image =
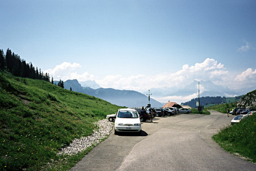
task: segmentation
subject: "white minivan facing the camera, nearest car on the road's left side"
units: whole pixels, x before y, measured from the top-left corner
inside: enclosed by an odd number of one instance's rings
[[[119,109],[115,118],[115,135],[119,132],[141,134],[140,116],[135,109]]]

